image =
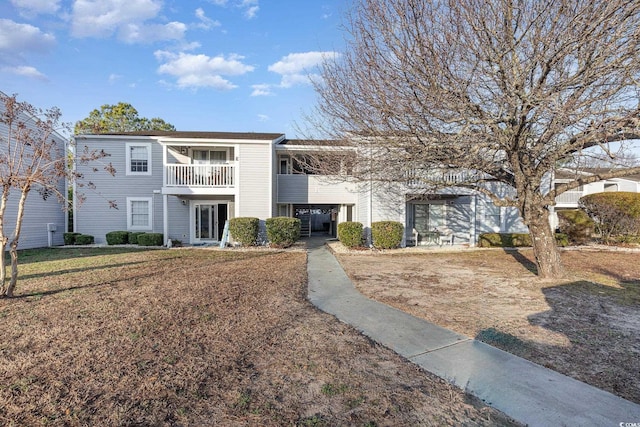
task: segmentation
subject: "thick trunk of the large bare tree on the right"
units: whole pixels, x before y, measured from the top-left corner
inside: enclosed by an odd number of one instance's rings
[[[549,211],[544,207],[529,207],[527,214],[523,217],[529,226],[538,276],[543,279],[564,277],[565,271],[555,233],[549,224]]]

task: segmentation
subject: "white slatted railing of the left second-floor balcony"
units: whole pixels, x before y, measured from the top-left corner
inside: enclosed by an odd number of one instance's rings
[[[166,187],[229,188],[235,185],[234,162],[208,165],[166,165]]]

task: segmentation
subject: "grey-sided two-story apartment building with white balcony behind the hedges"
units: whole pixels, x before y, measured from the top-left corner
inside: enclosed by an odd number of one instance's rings
[[[515,209],[455,187],[418,194],[411,185],[381,190],[375,183],[317,175],[298,159],[351,149],[332,141],[287,139],[278,133],[138,132],[76,137],[80,149],[104,150],[115,176],[95,165],[76,165],[95,184],[75,208],[75,231],[97,243],[115,230],[163,233],[186,244],[217,242],[229,218],[298,217],[303,233],[335,235],[337,224],[382,220],[405,225],[407,244],[428,243],[447,228],[457,243],[475,244],[480,233],[526,231]],[[94,171],[98,169],[97,171]],[[339,175],[339,177],[337,176]],[[345,179],[346,176],[346,179]],[[117,208],[110,208],[109,201]]]

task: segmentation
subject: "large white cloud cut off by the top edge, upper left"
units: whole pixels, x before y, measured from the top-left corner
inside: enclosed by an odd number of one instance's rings
[[[161,9],[161,0],[76,0],[71,33],[75,37],[118,34],[127,43],[182,39],[187,27],[181,22],[147,23]]]

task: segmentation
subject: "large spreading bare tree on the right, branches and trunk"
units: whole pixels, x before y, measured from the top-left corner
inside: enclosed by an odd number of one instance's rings
[[[347,30],[310,124],[367,154],[356,178],[429,192],[455,172],[456,186],[518,208],[539,276],[562,276],[556,195],[640,171],[629,156],[616,167],[611,148],[638,137],[640,2],[358,0]],[[580,156],[611,167],[551,188]]]

